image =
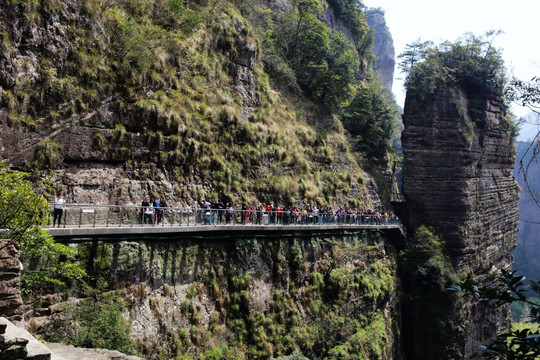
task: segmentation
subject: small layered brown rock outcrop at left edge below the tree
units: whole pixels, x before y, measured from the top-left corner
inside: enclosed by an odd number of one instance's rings
[[[0,316],[22,319],[19,244],[0,240]]]

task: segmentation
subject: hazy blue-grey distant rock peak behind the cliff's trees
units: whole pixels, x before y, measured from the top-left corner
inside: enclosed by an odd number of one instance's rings
[[[386,26],[384,11],[381,9],[366,10],[366,21],[375,33],[373,39],[373,54],[376,59],[374,70],[379,74],[382,83],[392,91],[396,54],[392,34]]]

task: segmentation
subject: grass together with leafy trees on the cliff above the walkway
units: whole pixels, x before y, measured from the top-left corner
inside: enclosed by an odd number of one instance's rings
[[[110,130],[94,133],[93,145],[107,157],[128,160],[126,171],[138,170],[133,176],[139,180],[177,172],[175,182],[202,181],[200,191],[234,194],[235,202],[358,204],[350,198],[363,192],[356,181],[360,169],[336,113],[353,98],[355,77],[366,64],[361,39],[353,44],[328,29],[318,19],[319,0],[295,1],[291,14],[251,6],[257,7],[226,1],[90,1],[81,14],[89,25],[70,23],[63,33],[77,44],[67,49],[66,61],[39,58],[35,81],[6,90],[2,104],[13,121],[45,134],[50,125],[63,126],[74,114],[90,114],[107,103],[118,117]],[[31,12],[49,7],[51,2]],[[55,7],[60,19],[70,18],[63,6]],[[354,16],[361,29],[365,21],[356,10]],[[99,31],[96,24],[102,25]],[[11,41],[11,46],[18,45]],[[247,83],[242,91],[249,100],[239,96],[237,85],[243,76],[239,64],[251,60],[256,88]],[[277,92],[270,85],[276,82],[295,94]],[[244,111],[246,105],[253,112]],[[146,150],[132,148],[136,133]],[[30,165],[57,168],[62,151],[45,141]],[[152,164],[163,171],[149,171]],[[314,164],[323,165],[314,170]],[[337,179],[335,169],[351,172],[354,180]],[[179,201],[192,196],[188,187],[177,189]]]

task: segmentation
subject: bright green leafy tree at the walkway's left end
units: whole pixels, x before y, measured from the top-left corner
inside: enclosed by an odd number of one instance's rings
[[[2,236],[20,244],[21,262],[25,265],[23,287],[30,291],[82,279],[86,274],[76,263],[77,252],[55,243],[41,228],[48,222],[49,205],[34,192],[27,176],[10,171],[5,162],[0,162],[0,229]],[[44,258],[47,266],[41,266],[40,259]]]

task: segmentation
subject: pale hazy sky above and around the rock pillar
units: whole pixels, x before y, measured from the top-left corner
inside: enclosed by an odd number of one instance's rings
[[[540,0],[364,0],[363,3],[385,11],[396,56],[406,44],[418,38],[439,44],[455,41],[466,32],[483,35],[496,29],[504,31],[494,45],[502,49],[509,71],[524,80],[540,76]],[[393,92],[403,106],[401,77],[396,66]],[[513,111],[520,116],[528,112],[517,107]]]

